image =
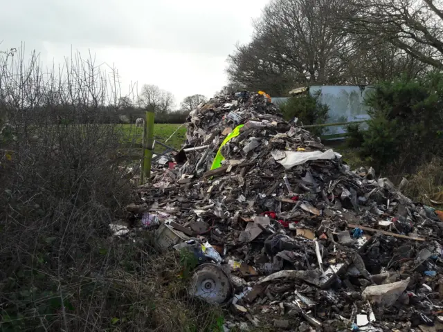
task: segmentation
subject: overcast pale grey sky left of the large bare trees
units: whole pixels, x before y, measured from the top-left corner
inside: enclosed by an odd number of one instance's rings
[[[177,104],[208,97],[226,84],[226,57],[248,42],[251,20],[269,0],[16,0],[3,1],[2,48],[26,43],[43,62],[63,62],[71,46],[97,63],[114,64],[122,90],[156,84]]]

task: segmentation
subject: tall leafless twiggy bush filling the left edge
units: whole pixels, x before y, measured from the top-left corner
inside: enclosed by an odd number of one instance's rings
[[[20,326],[32,331],[98,331],[94,316],[105,314],[106,297],[71,290],[82,284],[80,275],[94,270],[111,275],[107,256],[94,258],[93,252],[109,234],[109,221],[122,216],[116,206],[129,203],[132,193],[122,176],[127,166],[116,160],[125,132],[108,117],[119,88],[107,79],[114,74],[108,76],[92,57],[74,53],[53,71],[42,68],[38,53],[28,54],[23,48],[14,56],[0,53],[0,192],[8,193],[0,197],[0,264],[8,265],[0,275],[0,302],[10,303],[2,312],[24,313]],[[69,124],[56,122],[60,114]],[[49,319],[46,301],[39,302],[43,297],[14,294],[33,281],[16,278],[15,288],[6,286],[17,271],[37,268],[36,255],[46,252],[54,255],[39,264],[43,279],[37,293],[60,303]],[[2,322],[2,329],[17,326]]]

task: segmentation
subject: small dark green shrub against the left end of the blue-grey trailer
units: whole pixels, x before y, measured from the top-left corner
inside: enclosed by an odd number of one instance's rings
[[[329,107],[322,104],[319,100],[320,91],[315,95],[301,95],[299,97],[292,97],[280,106],[283,113],[284,120],[292,120],[294,117],[298,118],[297,124],[323,124],[326,122]],[[317,136],[320,136],[325,127],[310,128],[309,131]]]

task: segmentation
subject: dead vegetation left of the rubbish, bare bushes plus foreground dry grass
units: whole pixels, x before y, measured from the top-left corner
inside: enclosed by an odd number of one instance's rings
[[[110,158],[122,127],[102,123],[118,97],[92,57],[46,73],[35,53],[0,54],[1,331],[217,331],[177,257],[109,237],[134,189]]]

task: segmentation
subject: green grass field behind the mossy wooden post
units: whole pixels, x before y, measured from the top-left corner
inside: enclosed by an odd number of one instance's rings
[[[165,143],[174,131],[180,127],[180,124],[170,124],[170,123],[156,123],[154,124],[154,139]],[[123,130],[125,132],[125,140],[127,143],[141,144],[143,136],[143,128],[136,127],[135,124],[123,124]],[[175,149],[180,149],[183,142],[186,140],[186,127],[181,127],[177,133],[168,140],[167,145],[174,147]],[[163,151],[163,147],[156,147],[155,151]]]

